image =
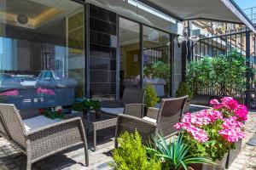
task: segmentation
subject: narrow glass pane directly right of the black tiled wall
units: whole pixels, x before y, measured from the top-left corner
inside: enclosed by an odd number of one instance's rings
[[[140,88],[140,28],[131,20],[119,18],[120,97],[125,88]]]

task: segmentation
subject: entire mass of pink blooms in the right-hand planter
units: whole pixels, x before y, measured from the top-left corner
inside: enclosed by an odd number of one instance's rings
[[[185,130],[201,143],[211,138],[207,136],[208,131],[206,132],[209,126],[211,129],[215,127],[221,129],[216,132],[230,143],[245,138],[245,133],[242,131],[244,127],[242,122],[247,120],[248,113],[245,105],[239,105],[236,99],[230,97],[221,99],[221,102],[212,99],[210,104],[213,106],[212,110],[187,113],[174,127]]]

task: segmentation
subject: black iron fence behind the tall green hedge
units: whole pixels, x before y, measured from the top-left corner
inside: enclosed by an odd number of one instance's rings
[[[246,28],[239,28],[233,31],[226,31],[223,35],[208,34],[200,37],[198,42],[192,42],[192,60],[203,57],[215,57],[220,54],[227,55],[231,51],[237,51],[241,56],[246,58],[247,66],[253,71],[256,69],[256,34],[247,31]],[[244,91],[231,89],[230,95],[234,97],[244,97],[247,105],[256,108],[256,88],[255,75],[244,77],[247,82],[247,88]],[[232,87],[230,85],[230,87]],[[201,89],[198,94],[207,94],[212,96],[223,95],[221,89],[217,87]]]

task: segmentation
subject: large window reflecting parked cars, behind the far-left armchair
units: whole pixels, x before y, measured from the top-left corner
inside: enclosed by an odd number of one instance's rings
[[[40,108],[84,97],[84,6],[69,0],[0,6],[1,102]]]

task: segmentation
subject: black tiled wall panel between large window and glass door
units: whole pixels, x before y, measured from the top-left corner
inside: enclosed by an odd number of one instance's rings
[[[116,97],[116,14],[90,5],[90,97]]]

